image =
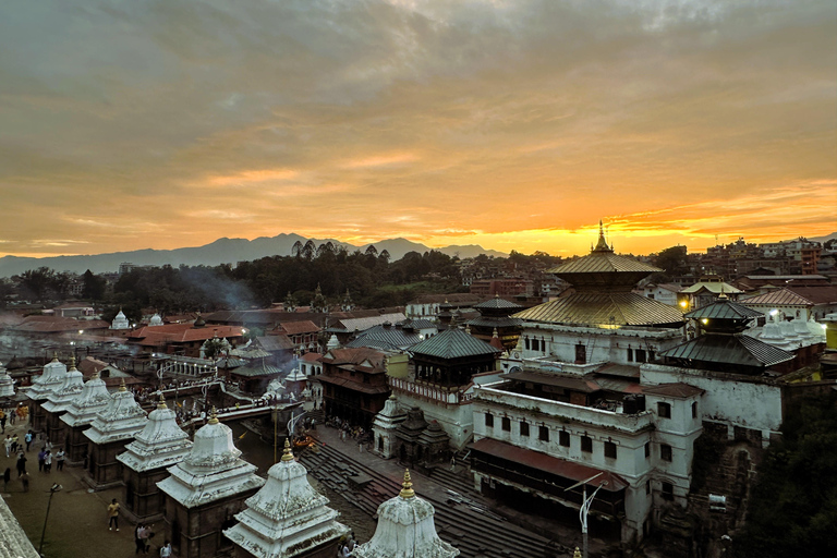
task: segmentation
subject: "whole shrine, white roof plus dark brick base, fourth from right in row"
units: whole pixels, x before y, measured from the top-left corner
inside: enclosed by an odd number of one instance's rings
[[[180,463],[192,449],[192,441],[180,426],[177,414],[160,395],[157,409],[125,452],[117,456],[122,465],[125,496],[122,510],[129,520],[156,521],[162,518],[165,496],[157,483],[169,476],[168,468]]]

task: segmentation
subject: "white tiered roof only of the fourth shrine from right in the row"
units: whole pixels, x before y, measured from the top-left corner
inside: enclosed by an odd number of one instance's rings
[[[177,413],[166,405],[160,395],[157,409],[148,413],[145,428],[117,460],[136,472],[150,471],[180,463],[191,449],[189,434],[178,426]]]

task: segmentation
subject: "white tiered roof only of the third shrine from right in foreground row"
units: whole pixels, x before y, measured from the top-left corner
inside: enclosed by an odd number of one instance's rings
[[[232,430],[213,410],[209,422],[195,433],[186,458],[169,468],[171,476],[157,483],[160,490],[185,508],[195,508],[241,494],[265,484],[256,465],[241,459],[232,442]]]

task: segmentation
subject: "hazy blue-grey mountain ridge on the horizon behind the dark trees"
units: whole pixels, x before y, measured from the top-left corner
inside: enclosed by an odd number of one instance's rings
[[[364,252],[369,244],[355,246],[333,239],[311,239],[314,244],[320,245],[331,241],[333,244],[345,246],[349,252],[360,250]],[[250,262],[268,256],[289,256],[296,241],[305,244],[308,239],[299,234],[279,234],[272,238],[259,236],[258,239],[218,239],[213,243],[197,247],[175,250],[135,250],[133,252],[114,252],[111,254],[94,254],[83,256],[57,256],[57,257],[17,257],[4,256],[0,258],[0,277],[11,277],[27,269],[49,267],[57,271],[73,271],[83,274],[87,269],[94,274],[117,271],[123,262],[130,262],[138,266],[217,266],[220,264],[235,265],[238,262]],[[378,253],[386,250],[390,260],[401,259],[408,252],[424,253],[430,248],[424,244],[411,242],[405,239],[389,239],[374,243]],[[459,255],[461,258],[475,257],[480,254],[505,257],[508,254],[494,250],[485,250],[482,246],[470,244],[465,246],[446,246],[434,248],[450,256]]]

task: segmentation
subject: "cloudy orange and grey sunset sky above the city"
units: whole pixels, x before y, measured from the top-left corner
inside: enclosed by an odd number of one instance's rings
[[[834,0],[0,4],[0,256],[837,231]]]

